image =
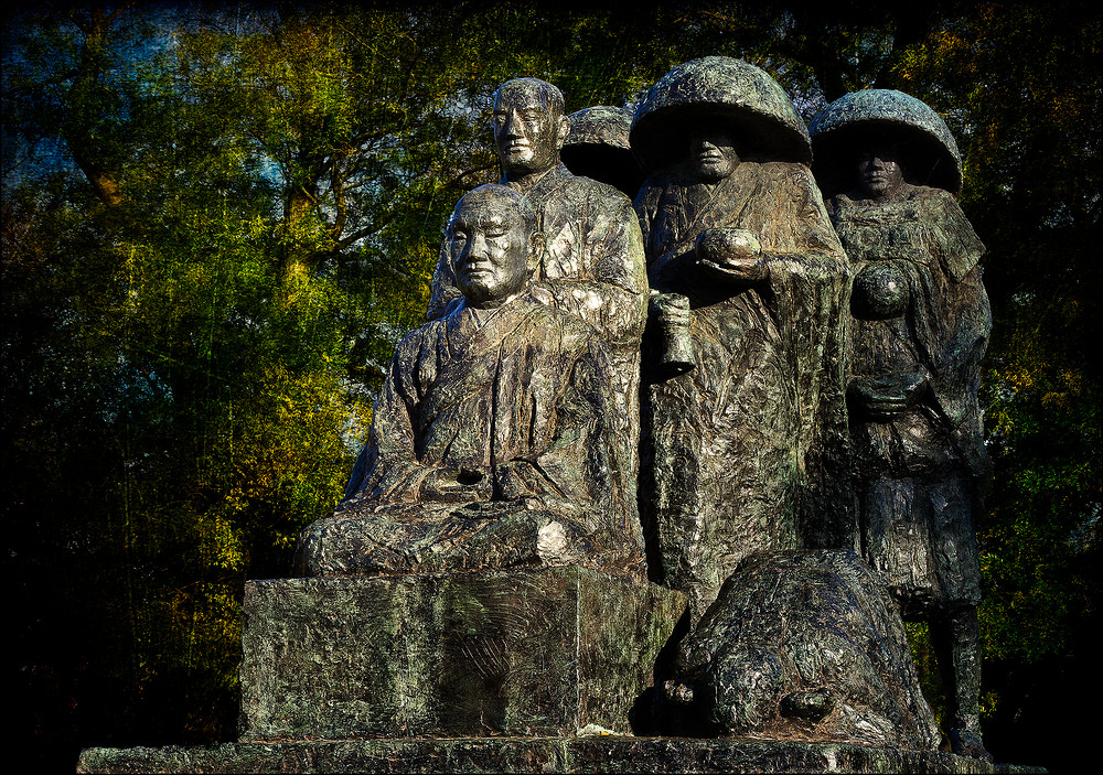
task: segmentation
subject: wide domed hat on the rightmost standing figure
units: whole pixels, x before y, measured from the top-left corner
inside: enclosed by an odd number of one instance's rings
[[[899,146],[909,182],[961,192],[961,153],[950,128],[925,103],[903,92],[852,92],[821,110],[810,130],[812,171],[826,195],[853,184],[857,154],[870,143]]]

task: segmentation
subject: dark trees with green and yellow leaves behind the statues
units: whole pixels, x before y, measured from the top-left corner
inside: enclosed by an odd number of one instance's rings
[[[942,114],[988,247],[984,724],[1059,771],[1099,689],[1100,67],[1088,4],[8,7],[2,508],[17,740],[233,740],[243,582],[342,492],[440,228],[494,180],[493,89],[631,105],[708,54],[806,120]],[[935,706],[930,649],[911,631]],[[1094,681],[1091,685],[1090,681]],[[1080,738],[1082,739],[1082,738]]]

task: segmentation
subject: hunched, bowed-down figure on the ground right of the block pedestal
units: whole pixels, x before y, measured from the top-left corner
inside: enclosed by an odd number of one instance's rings
[[[896,603],[854,552],[745,560],[682,643],[685,734],[938,749]]]

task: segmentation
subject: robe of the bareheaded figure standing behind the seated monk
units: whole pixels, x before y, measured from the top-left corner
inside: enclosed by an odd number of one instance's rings
[[[612,186],[552,168],[532,187],[516,189],[533,205],[547,248],[529,288],[542,302],[585,321],[604,340],[617,416],[613,432],[628,486],[635,489],[640,434],[640,338],[647,315],[647,276],[640,225],[627,196]],[[442,246],[426,313],[433,320],[460,299]]]

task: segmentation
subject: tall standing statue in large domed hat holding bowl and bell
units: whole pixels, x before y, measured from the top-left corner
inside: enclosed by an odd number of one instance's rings
[[[635,206],[656,310],[641,516],[653,577],[687,592],[697,618],[748,555],[845,542],[804,526],[846,510],[831,473],[845,454],[848,275],[807,130],[763,71],[679,65],[631,137],[651,174]]]

